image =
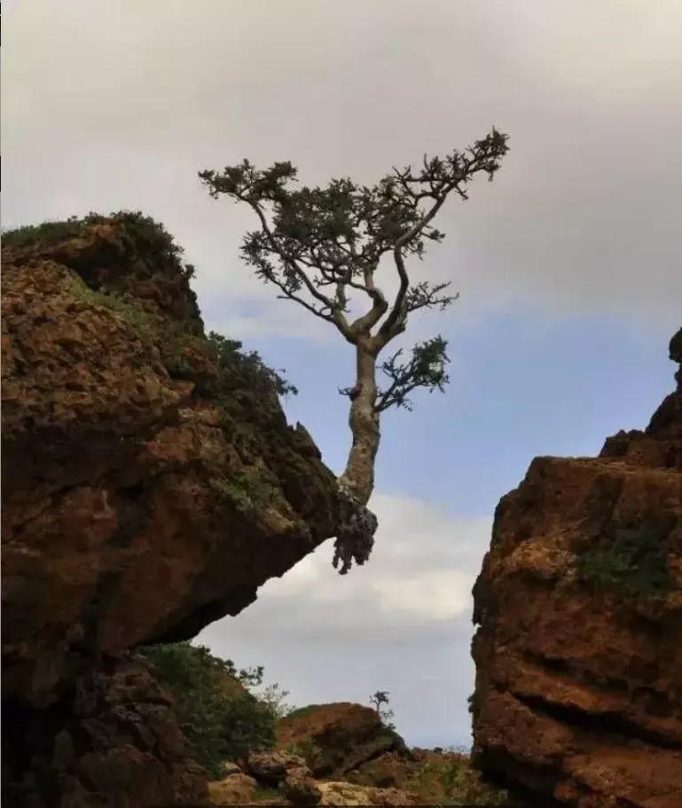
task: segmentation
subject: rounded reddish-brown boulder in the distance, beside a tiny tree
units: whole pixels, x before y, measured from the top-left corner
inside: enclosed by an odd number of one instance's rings
[[[300,750],[316,777],[342,777],[384,752],[407,754],[403,739],[376,710],[351,702],[314,705],[283,718],[277,746]]]

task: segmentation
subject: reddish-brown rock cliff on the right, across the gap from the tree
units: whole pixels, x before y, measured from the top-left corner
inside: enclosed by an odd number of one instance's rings
[[[474,749],[529,802],[682,805],[676,380],[644,432],[596,459],[537,458],[499,503],[474,586]]]

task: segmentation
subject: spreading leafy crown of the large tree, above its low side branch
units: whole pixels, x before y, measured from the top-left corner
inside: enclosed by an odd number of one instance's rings
[[[435,214],[451,193],[466,200],[467,184],[477,174],[492,179],[506,141],[492,129],[463,152],[425,155],[419,169],[394,167],[374,185],[342,177],[324,187],[297,188],[290,162],[256,169],[247,160],[223,171],[201,171],[200,179],[215,199],[224,194],[254,210],[260,227],[247,232],[241,255],[257,277],[277,286],[280,297],[332,323],[348,341],[372,336],[376,354],[404,331],[412,311],[444,309],[456,299],[448,283],[411,283],[405,258],[422,258],[427,242],[443,239],[432,224]],[[378,286],[387,254],[393,255],[399,280],[390,303]],[[351,321],[354,295],[369,308]]]

